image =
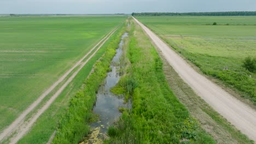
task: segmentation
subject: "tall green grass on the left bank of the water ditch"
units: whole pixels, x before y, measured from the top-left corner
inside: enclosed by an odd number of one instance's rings
[[[68,110],[62,116],[53,143],[78,143],[90,131],[89,122],[93,116],[92,108],[96,101],[98,87],[107,75],[115,49],[121,39],[124,28],[120,28],[106,52],[94,65],[93,71],[85,80],[84,86],[71,98]]]

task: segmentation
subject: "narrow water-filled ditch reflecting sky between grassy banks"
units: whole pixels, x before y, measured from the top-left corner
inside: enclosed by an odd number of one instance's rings
[[[103,140],[107,137],[107,130],[110,125],[113,125],[115,121],[118,121],[121,116],[119,107],[130,107],[130,103],[124,104],[124,98],[118,97],[118,95],[110,92],[110,89],[117,85],[120,79],[120,57],[123,53],[124,38],[128,37],[127,33],[124,33],[117,53],[112,59],[110,68],[112,71],[108,72],[104,85],[102,85],[97,92],[97,100],[94,106],[93,112],[99,116],[98,121],[91,123],[91,134],[87,137],[86,143],[103,143]]]

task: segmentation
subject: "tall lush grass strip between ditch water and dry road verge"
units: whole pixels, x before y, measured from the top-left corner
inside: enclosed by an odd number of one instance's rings
[[[117,87],[130,95],[132,109],[109,128],[105,143],[216,143],[171,91],[147,35],[133,20],[131,27],[124,49],[130,63]]]

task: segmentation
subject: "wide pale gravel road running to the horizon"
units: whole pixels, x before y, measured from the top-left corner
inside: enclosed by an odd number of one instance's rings
[[[133,17],[134,18],[134,17]],[[135,18],[134,18],[135,19]],[[215,83],[197,73],[191,66],[174,52],[156,34],[150,31],[141,22],[135,21],[153,40],[156,46],[162,51],[168,63],[188,83],[188,85],[206,101],[214,110],[219,112],[238,130],[246,134],[250,139],[256,141],[256,111],[251,107],[232,97]]]

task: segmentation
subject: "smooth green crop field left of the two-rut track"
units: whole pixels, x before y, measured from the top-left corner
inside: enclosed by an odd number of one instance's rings
[[[125,19],[0,17],[0,131]]]

